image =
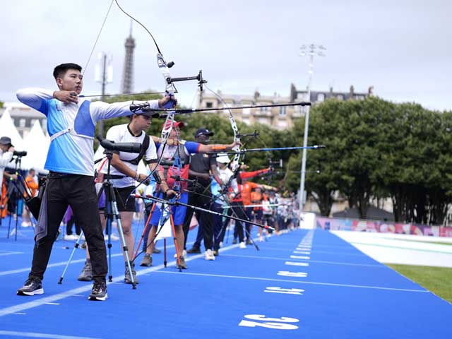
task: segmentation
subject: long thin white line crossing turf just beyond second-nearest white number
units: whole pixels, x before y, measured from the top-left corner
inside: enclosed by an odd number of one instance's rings
[[[159,270],[157,273],[177,274],[177,272],[170,272],[169,270]],[[258,277],[244,277],[239,275],[221,275],[221,274],[208,274],[208,273],[187,273],[184,275],[200,275],[203,277],[214,278],[234,278],[234,279],[246,279],[246,280],[264,280],[264,281],[276,281],[282,283],[297,283],[297,284],[309,284],[309,285],[324,285],[324,286],[336,286],[336,287],[355,287],[355,288],[369,288],[371,290],[388,290],[388,291],[400,291],[400,292],[423,292],[430,293],[427,290],[411,290],[406,288],[393,288],[393,287],[379,287],[379,286],[367,286],[367,285],[347,285],[347,284],[333,284],[333,283],[319,283],[314,281],[297,281],[286,279],[271,279],[271,278],[258,278]]]

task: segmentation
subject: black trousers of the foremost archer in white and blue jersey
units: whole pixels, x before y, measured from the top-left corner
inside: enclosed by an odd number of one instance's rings
[[[44,278],[60,222],[69,205],[85,234],[93,266],[93,279],[105,281],[107,251],[93,177],[78,174],[52,176],[51,173],[44,196],[47,197],[47,236],[35,242],[30,278]]]

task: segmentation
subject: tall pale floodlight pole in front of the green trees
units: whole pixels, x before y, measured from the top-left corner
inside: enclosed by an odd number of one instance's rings
[[[325,57],[325,54],[321,50],[326,48],[321,45],[309,44],[308,46],[303,45],[300,47],[300,56],[304,57],[309,55],[309,79],[307,85],[307,99],[306,101],[311,101],[311,82],[312,74],[314,73],[314,55],[319,57]],[[306,203],[306,195],[304,194],[304,179],[306,177],[306,158],[307,158],[307,145],[308,145],[308,131],[309,131],[309,110],[310,106],[304,107],[304,136],[303,136],[303,155],[302,155],[302,174],[299,182],[299,210],[300,212],[304,209],[304,204]]]

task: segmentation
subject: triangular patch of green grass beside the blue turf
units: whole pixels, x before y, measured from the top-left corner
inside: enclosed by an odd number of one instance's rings
[[[406,278],[452,303],[452,268],[385,263]]]

